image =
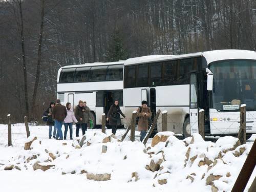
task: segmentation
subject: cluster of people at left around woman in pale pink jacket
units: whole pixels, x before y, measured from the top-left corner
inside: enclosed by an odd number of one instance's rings
[[[70,102],[67,102],[66,106],[64,106],[60,103],[60,100],[57,99],[56,105],[54,102],[51,102],[44,115],[48,116],[47,125],[49,125],[49,139],[52,138],[52,127],[54,127],[53,138],[57,140],[63,139],[61,130],[62,124],[64,124],[65,127],[64,139],[67,139],[68,129],[70,139],[73,139],[73,122],[76,123],[76,137],[79,137],[79,129],[82,129],[82,135],[86,134],[88,123],[90,123],[90,119],[92,118],[87,102],[81,100],[74,112]]]

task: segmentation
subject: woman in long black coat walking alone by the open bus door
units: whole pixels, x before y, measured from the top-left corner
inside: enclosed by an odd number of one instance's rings
[[[109,121],[109,125],[111,125],[112,133],[116,134],[117,126],[121,124],[120,114],[125,118],[125,115],[120,110],[118,105],[118,100],[115,100],[114,104],[111,105],[108,115],[106,116],[106,121]]]

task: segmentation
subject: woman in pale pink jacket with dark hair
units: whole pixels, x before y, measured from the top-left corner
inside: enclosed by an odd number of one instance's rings
[[[70,139],[73,139],[72,138],[72,134],[73,134],[73,121],[75,123],[77,123],[77,120],[75,118],[73,110],[71,109],[71,103],[67,102],[66,108],[67,108],[68,115],[64,119],[64,126],[65,126],[64,139],[67,139],[68,129],[69,129],[69,133],[70,133]]]

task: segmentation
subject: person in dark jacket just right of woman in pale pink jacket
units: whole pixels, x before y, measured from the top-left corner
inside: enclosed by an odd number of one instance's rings
[[[77,123],[76,123],[76,137],[79,137],[79,129],[80,127],[82,128],[82,135],[86,134],[86,130],[87,130],[87,121],[84,118],[84,113],[86,112],[86,108],[84,108],[83,106],[83,102],[80,100],[78,102],[78,105],[76,106],[75,109],[75,117],[77,119]]]

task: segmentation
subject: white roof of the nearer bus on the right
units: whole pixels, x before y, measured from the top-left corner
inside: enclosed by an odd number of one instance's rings
[[[163,60],[173,60],[179,58],[189,58],[189,57],[199,57],[204,56],[207,63],[211,63],[218,60],[227,60],[227,59],[256,59],[256,53],[254,51],[248,50],[235,50],[235,49],[226,49],[226,50],[214,50],[214,51],[205,51],[198,53],[189,53],[182,55],[148,55],[143,57],[130,58],[124,61],[124,65],[133,65],[137,63],[150,63],[155,61]]]

